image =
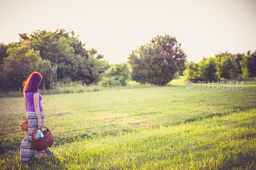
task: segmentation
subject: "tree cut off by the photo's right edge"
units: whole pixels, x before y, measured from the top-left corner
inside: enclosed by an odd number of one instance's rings
[[[244,78],[253,78],[256,77],[256,50],[251,53],[247,52],[247,55],[244,55],[243,60],[240,61],[240,65],[243,72]]]

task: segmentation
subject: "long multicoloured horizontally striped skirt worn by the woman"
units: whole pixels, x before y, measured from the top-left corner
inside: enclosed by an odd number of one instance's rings
[[[44,112],[40,112],[42,124],[44,124]],[[28,136],[32,136],[32,133],[35,129],[38,129],[38,119],[36,116],[36,112],[28,112]],[[39,129],[38,129],[39,130]],[[40,129],[42,130],[42,128]],[[36,131],[35,131],[36,132]],[[44,154],[51,154],[49,148],[44,151],[37,152],[33,146],[31,146],[31,142],[28,142],[29,137],[26,136],[20,145],[20,160],[28,161],[31,158],[40,158]]]

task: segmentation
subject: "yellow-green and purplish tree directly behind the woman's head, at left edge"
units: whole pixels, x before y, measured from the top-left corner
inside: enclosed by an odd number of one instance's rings
[[[1,82],[6,89],[19,89],[21,83],[33,71],[42,74],[41,86],[50,88],[56,79],[57,67],[52,67],[50,61],[42,60],[39,51],[30,49],[23,44],[20,47],[7,49],[8,57],[4,58],[1,65]]]

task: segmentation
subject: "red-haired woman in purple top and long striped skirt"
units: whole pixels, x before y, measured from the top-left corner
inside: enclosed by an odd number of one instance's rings
[[[28,79],[23,83],[24,105],[28,118],[28,136],[26,136],[20,145],[20,160],[28,161],[29,159],[39,158],[44,154],[53,155],[49,148],[44,151],[37,152],[28,139],[32,136],[35,129],[42,130],[44,124],[44,110],[41,104],[42,96],[39,92],[39,85],[42,80],[42,75],[38,72],[33,72]]]

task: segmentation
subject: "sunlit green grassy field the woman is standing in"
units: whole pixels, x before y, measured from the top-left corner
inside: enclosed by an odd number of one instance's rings
[[[256,82],[43,95],[53,152],[20,162],[23,98],[0,98],[1,169],[256,169]]]

